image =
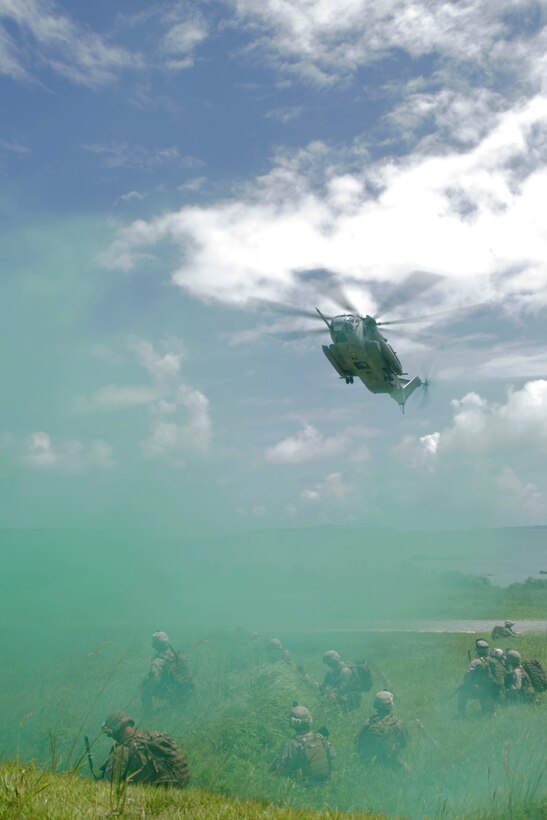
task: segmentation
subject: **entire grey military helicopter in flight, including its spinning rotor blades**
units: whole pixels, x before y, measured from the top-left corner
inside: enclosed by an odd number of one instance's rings
[[[319,273],[329,275],[328,272],[319,271]],[[414,298],[422,291],[434,286],[441,278],[436,274],[423,271],[409,274],[398,287],[396,294],[392,294],[391,298],[380,308],[380,313],[383,314],[386,310],[391,310],[402,302]],[[347,312],[337,316],[326,316],[317,307],[314,313],[275,302],[262,301],[260,305],[263,308],[288,313],[292,316],[321,318],[332,339],[332,344],[323,345],[323,353],[340,378],[344,379],[346,384],[353,384],[355,378],[358,378],[371,393],[386,393],[397,402],[404,413],[409,397],[420,387],[427,390],[429,379],[421,379],[419,376],[406,378],[408,374],[403,371],[399,357],[379,328],[387,325],[421,322],[452,311],[380,322],[379,317],[362,316],[332,281],[327,293],[331,299],[334,297],[334,301]],[[317,331],[309,329],[280,335],[285,339],[294,339],[314,332]]]

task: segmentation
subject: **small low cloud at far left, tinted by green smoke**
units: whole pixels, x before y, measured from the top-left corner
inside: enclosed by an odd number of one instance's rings
[[[84,444],[77,439],[53,443],[44,432],[32,433],[23,449],[23,460],[36,469],[61,473],[82,473],[90,468],[108,470],[114,466],[112,447],[105,441]]]

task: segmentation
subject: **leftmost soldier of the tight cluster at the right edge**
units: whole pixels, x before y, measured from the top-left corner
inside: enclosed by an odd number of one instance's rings
[[[483,638],[475,641],[477,657],[474,658],[459,687],[458,716],[465,717],[467,701],[478,700],[482,715],[491,715],[504,698],[505,670],[499,650],[489,655],[489,644]],[[503,656],[503,652],[501,653]]]

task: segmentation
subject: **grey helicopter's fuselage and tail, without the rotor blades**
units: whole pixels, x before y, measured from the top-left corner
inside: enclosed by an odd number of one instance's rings
[[[372,316],[343,314],[330,320],[332,344],[323,352],[340,378],[348,384],[359,378],[371,393],[387,393],[404,407],[422,382],[403,378],[403,368]]]

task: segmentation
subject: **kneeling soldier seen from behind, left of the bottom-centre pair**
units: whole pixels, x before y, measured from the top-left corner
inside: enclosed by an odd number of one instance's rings
[[[305,706],[294,706],[290,722],[296,735],[289,740],[271,770],[288,777],[321,782],[331,775],[336,755],[322,732],[312,731],[313,718]]]

